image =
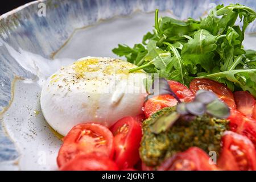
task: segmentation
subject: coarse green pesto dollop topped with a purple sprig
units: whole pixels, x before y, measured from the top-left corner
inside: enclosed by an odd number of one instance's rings
[[[228,130],[226,119],[216,119],[209,115],[197,116],[192,121],[178,120],[167,131],[160,134],[152,133],[152,124],[160,116],[176,110],[176,107],[166,107],[157,111],[143,122],[143,137],[139,153],[142,162],[147,166],[158,166],[164,159],[196,146],[205,152],[221,148],[221,137]]]

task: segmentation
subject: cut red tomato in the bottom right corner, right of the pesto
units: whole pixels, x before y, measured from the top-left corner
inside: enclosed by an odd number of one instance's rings
[[[256,152],[253,143],[245,136],[225,131],[218,167],[224,170],[256,170]]]

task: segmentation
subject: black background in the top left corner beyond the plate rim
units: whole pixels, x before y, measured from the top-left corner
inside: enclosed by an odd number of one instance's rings
[[[1,1],[0,5],[0,15],[7,13],[10,10],[15,9],[21,5],[24,5],[32,0],[8,0],[8,1]]]

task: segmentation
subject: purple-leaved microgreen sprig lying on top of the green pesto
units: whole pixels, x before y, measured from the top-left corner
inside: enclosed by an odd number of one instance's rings
[[[159,87],[161,85],[162,93],[170,92],[171,89],[169,90],[169,86],[168,88],[166,86],[168,82],[165,79],[159,80],[161,80],[159,81]],[[174,92],[171,90],[171,93]],[[174,95],[176,96],[175,93]],[[209,114],[212,117],[220,119],[226,119],[230,115],[230,109],[224,102],[220,101],[213,92],[199,90],[192,102],[179,102],[176,111],[160,116],[152,125],[151,130],[153,133],[159,134],[167,131],[179,119],[181,121],[192,121],[196,116],[204,114]]]

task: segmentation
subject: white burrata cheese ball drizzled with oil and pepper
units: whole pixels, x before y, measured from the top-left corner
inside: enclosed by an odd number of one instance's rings
[[[79,123],[112,126],[118,119],[142,113],[144,72],[134,64],[106,57],[85,57],[61,68],[43,85],[40,98],[46,121],[61,135]]]

